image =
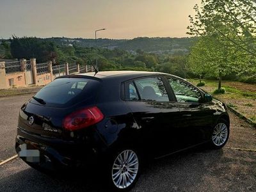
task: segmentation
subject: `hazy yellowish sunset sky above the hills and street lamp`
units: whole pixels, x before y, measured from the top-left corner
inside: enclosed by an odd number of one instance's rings
[[[0,38],[186,35],[200,0],[0,0]]]

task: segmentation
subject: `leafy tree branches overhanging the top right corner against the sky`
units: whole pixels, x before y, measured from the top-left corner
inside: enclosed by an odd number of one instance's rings
[[[195,18],[189,15],[190,35],[214,35],[246,54],[256,55],[256,3],[254,0],[202,0]],[[214,11],[213,11],[214,10]],[[223,27],[225,26],[225,27]]]

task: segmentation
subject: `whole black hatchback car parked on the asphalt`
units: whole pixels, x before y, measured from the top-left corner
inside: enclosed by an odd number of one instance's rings
[[[131,189],[144,158],[228,140],[225,104],[157,72],[61,76],[20,109],[16,150],[38,170],[100,164],[109,186]]]

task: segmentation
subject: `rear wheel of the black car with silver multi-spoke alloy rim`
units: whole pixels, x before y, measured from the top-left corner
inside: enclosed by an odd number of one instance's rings
[[[107,170],[109,191],[130,191],[136,184],[141,170],[137,150],[122,148],[113,153]]]

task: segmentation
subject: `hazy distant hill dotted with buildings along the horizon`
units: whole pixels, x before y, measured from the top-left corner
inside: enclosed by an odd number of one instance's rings
[[[187,53],[189,52],[189,48],[195,44],[196,38],[170,38],[170,37],[138,37],[132,40],[115,40],[108,38],[99,38],[97,39],[97,43],[95,39],[92,38],[60,38],[60,37],[52,37],[46,38],[46,40],[50,40],[55,42],[58,45],[77,45],[81,47],[103,47],[107,49],[124,49],[127,51],[136,51],[141,49],[141,51],[145,52],[155,52],[159,54],[168,53],[175,54],[179,53]]]

